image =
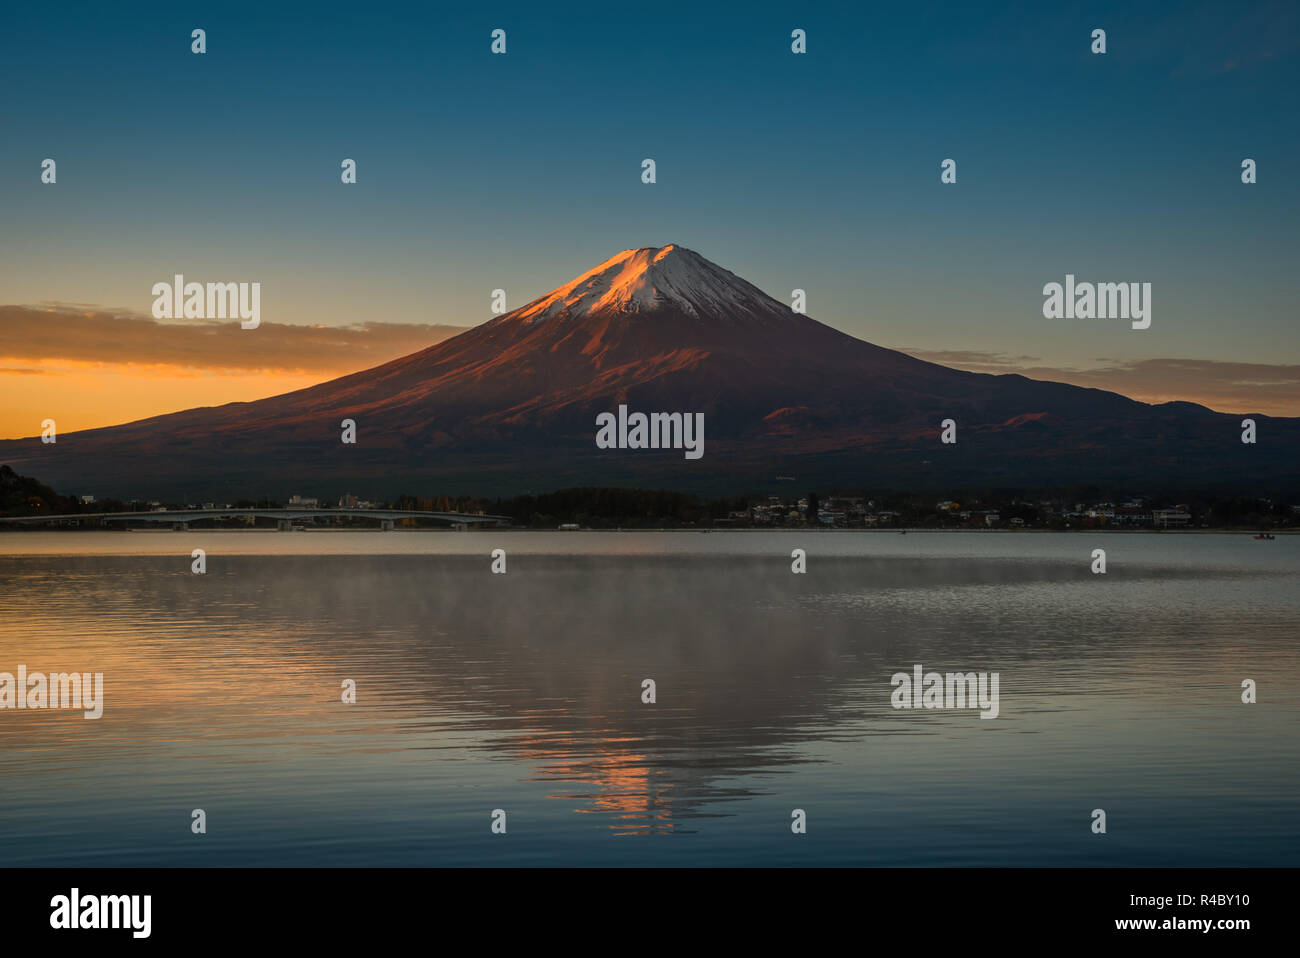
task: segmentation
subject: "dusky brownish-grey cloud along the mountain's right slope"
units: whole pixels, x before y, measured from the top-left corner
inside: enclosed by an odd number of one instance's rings
[[[1036,356],[971,350],[907,350],[931,363],[975,373],[1019,373],[1031,380],[1105,389],[1144,403],[1175,400],[1212,409],[1300,416],[1300,365],[1216,359],[1096,359],[1089,368],[1044,365]]]

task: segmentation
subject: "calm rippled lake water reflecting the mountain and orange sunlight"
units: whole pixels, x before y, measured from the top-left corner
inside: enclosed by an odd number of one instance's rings
[[[1294,866],[1297,573],[1244,534],[3,534],[0,671],[105,707],[0,711],[0,866]],[[892,708],[916,663],[998,672],[1000,718]]]

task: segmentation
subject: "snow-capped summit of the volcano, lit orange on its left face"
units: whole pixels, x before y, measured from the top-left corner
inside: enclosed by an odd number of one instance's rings
[[[637,313],[676,308],[688,316],[727,318],[788,307],[753,283],[685,247],[624,250],[595,269],[536,299],[515,316],[529,322],[554,316]]]

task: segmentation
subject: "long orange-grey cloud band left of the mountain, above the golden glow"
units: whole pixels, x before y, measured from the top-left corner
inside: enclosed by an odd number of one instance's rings
[[[160,322],[127,309],[84,303],[0,305],[0,356],[9,360],[166,365],[202,370],[298,370],[337,374],[426,348],[462,326],[360,322],[291,326],[239,321]],[[9,368],[0,373],[39,369]]]

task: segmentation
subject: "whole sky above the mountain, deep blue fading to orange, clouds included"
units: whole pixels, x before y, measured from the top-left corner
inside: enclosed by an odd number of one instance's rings
[[[6,4],[0,84],[0,438],[311,385],[667,243],[926,359],[1300,415],[1294,3]],[[263,326],[157,324],[176,273],[260,282]],[[1152,283],[1150,328],[1044,318],[1067,273]]]

